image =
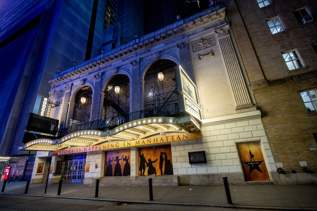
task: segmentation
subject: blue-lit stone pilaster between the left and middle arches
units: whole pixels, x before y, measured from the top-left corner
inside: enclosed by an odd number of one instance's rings
[[[102,75],[102,73],[98,73],[97,75],[94,76],[94,78],[95,78],[95,80],[94,80],[94,95],[93,95],[90,121],[100,119],[101,75]]]

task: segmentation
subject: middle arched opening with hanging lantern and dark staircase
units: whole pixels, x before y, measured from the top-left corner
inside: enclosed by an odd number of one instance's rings
[[[129,121],[130,86],[129,78],[117,74],[105,87],[103,99],[103,118],[106,125],[121,125]],[[111,122],[111,124],[109,124]]]

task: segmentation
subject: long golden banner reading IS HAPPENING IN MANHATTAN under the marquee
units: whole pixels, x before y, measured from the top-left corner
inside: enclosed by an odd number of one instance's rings
[[[148,138],[148,139],[123,141],[119,143],[107,143],[103,145],[87,146],[87,147],[80,147],[75,149],[65,149],[65,150],[59,150],[55,152],[57,152],[58,155],[65,155],[65,154],[80,153],[80,152],[82,153],[82,152],[92,152],[92,151],[99,151],[99,150],[118,149],[118,148],[125,148],[125,147],[131,147],[131,146],[163,144],[163,143],[168,143],[172,141],[182,141],[182,140],[197,139],[197,138],[201,138],[200,132],[181,133],[181,134],[154,137],[154,138]]]

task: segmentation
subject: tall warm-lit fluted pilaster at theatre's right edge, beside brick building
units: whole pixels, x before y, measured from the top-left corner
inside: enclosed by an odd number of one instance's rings
[[[229,25],[215,30],[221,47],[224,63],[226,65],[230,84],[236,100],[236,110],[253,107],[245,85],[241,67],[239,65],[235,49],[229,33]]]

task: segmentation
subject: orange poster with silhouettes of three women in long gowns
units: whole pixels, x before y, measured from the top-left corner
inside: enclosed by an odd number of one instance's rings
[[[129,176],[130,149],[105,152],[105,177]]]

